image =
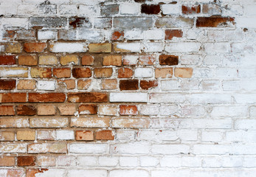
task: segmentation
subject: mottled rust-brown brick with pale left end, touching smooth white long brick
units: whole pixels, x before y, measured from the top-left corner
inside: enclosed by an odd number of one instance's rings
[[[108,94],[99,92],[69,93],[68,101],[71,103],[103,103],[108,102]]]

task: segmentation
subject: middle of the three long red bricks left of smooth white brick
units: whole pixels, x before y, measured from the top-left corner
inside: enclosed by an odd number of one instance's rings
[[[63,93],[29,93],[29,102],[50,103],[50,102],[64,102],[66,95]]]

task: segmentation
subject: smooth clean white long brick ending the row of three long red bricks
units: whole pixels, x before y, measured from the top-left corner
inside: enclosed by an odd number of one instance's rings
[[[147,93],[110,93],[110,102],[147,102]]]

